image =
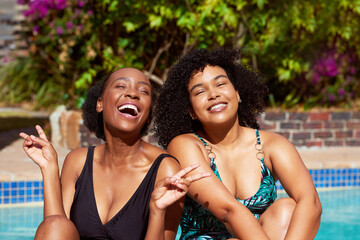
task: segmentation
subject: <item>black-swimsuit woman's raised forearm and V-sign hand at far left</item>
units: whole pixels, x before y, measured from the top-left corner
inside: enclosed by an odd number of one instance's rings
[[[59,179],[57,153],[44,131],[36,126],[39,137],[20,133],[25,139],[23,148],[26,154],[40,167],[44,188],[44,218],[50,215],[65,215]]]

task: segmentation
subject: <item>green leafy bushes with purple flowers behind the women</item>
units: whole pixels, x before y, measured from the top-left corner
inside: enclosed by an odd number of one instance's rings
[[[87,89],[120,67],[161,85],[192,48],[243,49],[269,104],[349,105],[360,97],[359,0],[19,0],[29,56],[0,77],[2,100],[79,107]],[[60,97],[59,97],[60,96]]]

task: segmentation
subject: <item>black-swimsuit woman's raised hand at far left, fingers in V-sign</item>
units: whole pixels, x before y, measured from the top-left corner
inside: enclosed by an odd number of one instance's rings
[[[19,134],[25,141],[23,143],[23,148],[26,154],[37,164],[41,169],[47,168],[57,163],[57,153],[54,147],[51,145],[47,139],[43,129],[36,125],[36,130],[39,134],[39,137],[34,135],[27,135],[26,133],[21,132]]]

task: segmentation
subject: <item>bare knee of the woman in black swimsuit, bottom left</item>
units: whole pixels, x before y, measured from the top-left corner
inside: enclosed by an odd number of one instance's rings
[[[80,239],[75,225],[65,216],[48,216],[39,225],[35,239]]]

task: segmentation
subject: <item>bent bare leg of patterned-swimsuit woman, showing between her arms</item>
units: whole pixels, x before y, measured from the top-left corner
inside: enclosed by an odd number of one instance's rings
[[[280,198],[261,215],[260,224],[270,239],[285,238],[295,206],[292,198]]]

